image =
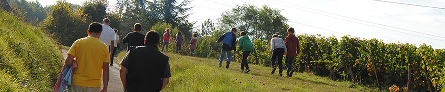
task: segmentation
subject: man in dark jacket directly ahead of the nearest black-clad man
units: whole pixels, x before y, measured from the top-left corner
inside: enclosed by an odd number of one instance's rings
[[[128,33],[123,39],[122,43],[128,43],[127,51],[136,46],[144,45],[144,37],[145,35],[142,32],[142,25],[140,23],[134,24],[134,31]]]

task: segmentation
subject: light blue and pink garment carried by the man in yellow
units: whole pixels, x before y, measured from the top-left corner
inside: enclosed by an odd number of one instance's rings
[[[62,80],[59,87],[59,92],[63,92],[71,86],[71,77],[73,77],[73,67],[65,65],[64,68],[65,69],[63,69],[62,72]]]

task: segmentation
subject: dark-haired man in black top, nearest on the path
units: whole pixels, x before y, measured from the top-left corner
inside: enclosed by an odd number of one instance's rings
[[[125,92],[159,92],[169,83],[169,57],[159,51],[159,34],[148,31],[144,46],[127,52],[121,62],[120,77]]]

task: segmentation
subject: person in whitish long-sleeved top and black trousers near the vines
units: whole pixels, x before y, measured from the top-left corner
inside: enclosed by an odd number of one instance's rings
[[[270,39],[270,51],[272,54],[270,58],[270,62],[272,63],[272,71],[271,73],[275,73],[276,63],[278,61],[279,75],[283,75],[283,55],[287,53],[286,45],[284,44],[284,40],[279,38],[278,35],[273,34],[272,39]],[[278,59],[277,59],[278,58]]]

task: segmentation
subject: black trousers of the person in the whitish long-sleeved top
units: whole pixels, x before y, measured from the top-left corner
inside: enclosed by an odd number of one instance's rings
[[[278,61],[278,69],[280,73],[283,73],[283,55],[284,55],[284,48],[276,48],[273,50],[272,57],[270,58],[272,66],[276,67],[275,61]]]

